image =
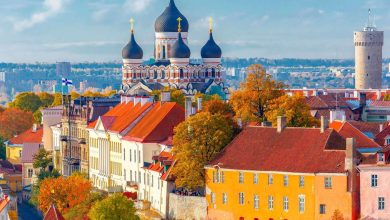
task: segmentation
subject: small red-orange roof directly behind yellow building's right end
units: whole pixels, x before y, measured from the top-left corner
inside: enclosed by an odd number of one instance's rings
[[[350,122],[333,121],[329,127],[335,129],[343,138],[355,138],[357,148],[378,148],[378,143],[367,137]]]

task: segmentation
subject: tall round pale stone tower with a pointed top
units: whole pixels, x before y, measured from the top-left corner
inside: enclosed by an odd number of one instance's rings
[[[362,31],[354,33],[355,88],[380,89],[382,87],[383,31],[378,31],[370,18]]]

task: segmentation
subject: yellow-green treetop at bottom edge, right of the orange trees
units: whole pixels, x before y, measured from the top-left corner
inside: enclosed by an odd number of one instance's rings
[[[121,219],[138,220],[134,203],[121,193],[115,193],[93,205],[88,217],[91,220]]]

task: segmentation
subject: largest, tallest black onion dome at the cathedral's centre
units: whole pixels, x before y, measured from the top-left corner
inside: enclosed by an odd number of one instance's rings
[[[157,18],[154,23],[154,29],[156,32],[177,32],[177,19],[181,18],[181,31],[188,32],[188,21],[179,9],[177,9],[175,2],[170,0],[168,7]]]

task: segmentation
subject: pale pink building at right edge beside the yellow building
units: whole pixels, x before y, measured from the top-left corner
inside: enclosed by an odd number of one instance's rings
[[[362,219],[390,219],[390,145],[359,165]]]

